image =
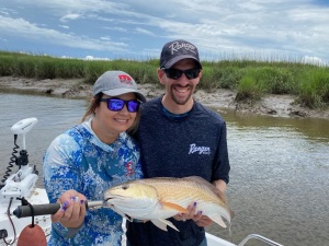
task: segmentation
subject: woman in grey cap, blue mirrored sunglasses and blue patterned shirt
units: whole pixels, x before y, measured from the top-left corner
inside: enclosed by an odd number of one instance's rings
[[[86,211],[87,200],[103,200],[110,187],[141,178],[139,149],[126,131],[135,131],[139,104],[146,102],[132,77],[103,73],[82,122],[55,138],[43,164],[52,216],[48,245],[121,245],[122,216],[109,208]]]

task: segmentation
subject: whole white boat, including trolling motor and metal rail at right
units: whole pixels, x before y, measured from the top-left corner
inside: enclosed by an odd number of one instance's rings
[[[36,187],[38,171],[36,166],[29,164],[29,154],[25,145],[26,133],[37,122],[36,118],[25,118],[11,127],[14,134],[14,148],[9,166],[3,176],[0,191],[0,246],[23,245],[20,236],[26,227],[39,226],[47,238],[52,230],[50,214],[54,214],[59,204],[49,204],[49,200],[44,188]],[[22,148],[16,144],[18,136],[22,138]],[[19,156],[16,155],[19,153]],[[14,165],[18,171],[11,174]],[[97,209],[101,206],[99,201],[89,201],[89,208]],[[125,221],[123,222],[123,229]],[[206,233],[208,246],[243,246],[250,239],[262,241],[269,245],[282,246],[259,234],[249,234],[238,245],[219,238],[211,233]],[[25,244],[26,245],[26,244]],[[123,239],[125,245],[125,239]]]

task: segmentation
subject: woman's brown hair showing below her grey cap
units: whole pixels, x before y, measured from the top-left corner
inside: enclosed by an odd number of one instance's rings
[[[101,104],[102,96],[103,96],[103,93],[100,92],[99,94],[94,95],[90,99],[90,104],[89,104],[84,115],[81,118],[81,122],[83,122],[87,119],[89,119],[90,117],[94,116],[94,112],[95,112],[97,107],[99,107]],[[135,119],[133,126],[127,129],[127,131],[126,131],[127,133],[129,133],[129,134],[136,133],[136,131],[138,129],[138,125],[139,125],[139,119],[140,119],[140,110],[141,110],[141,108],[139,107],[138,112],[136,113],[137,114],[136,119]]]

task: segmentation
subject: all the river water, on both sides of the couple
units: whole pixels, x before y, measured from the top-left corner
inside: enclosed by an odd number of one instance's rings
[[[0,92],[1,179],[13,148],[13,124],[38,119],[26,134],[26,149],[30,164],[41,171],[50,141],[78,124],[87,105],[84,99]],[[234,243],[258,233],[285,246],[329,245],[329,121],[220,114],[228,127]],[[230,239],[217,224],[207,231]]]

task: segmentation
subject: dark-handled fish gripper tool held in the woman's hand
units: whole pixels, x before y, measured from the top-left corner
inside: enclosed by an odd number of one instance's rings
[[[103,207],[104,201],[86,201],[84,203],[86,209],[98,209],[98,207]],[[19,206],[13,211],[13,214],[19,219],[26,216],[55,214],[60,209],[60,203]]]

